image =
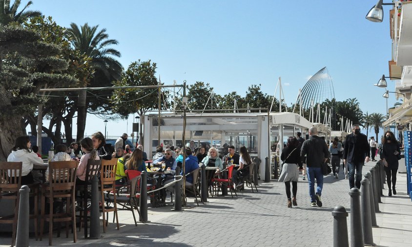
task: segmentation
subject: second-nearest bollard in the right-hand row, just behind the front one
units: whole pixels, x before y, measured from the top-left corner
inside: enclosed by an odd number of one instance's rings
[[[350,189],[350,246],[363,247],[363,229],[361,220],[360,192],[353,187]]]

